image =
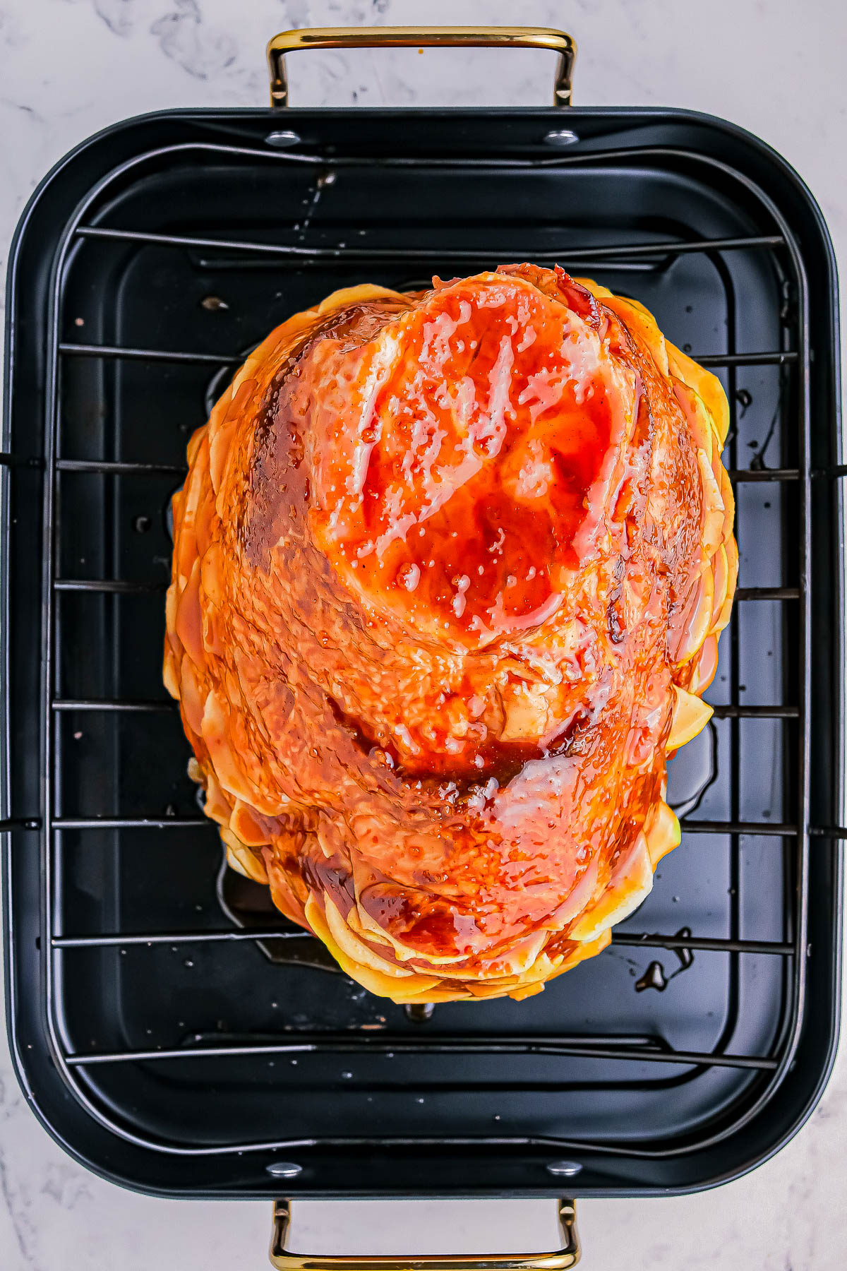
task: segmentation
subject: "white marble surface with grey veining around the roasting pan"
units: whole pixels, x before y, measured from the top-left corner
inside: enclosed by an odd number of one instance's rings
[[[41,175],[98,128],[166,107],[264,102],[264,42],[281,28],[414,22],[570,25],[578,102],[683,105],[744,125],[808,180],[847,272],[842,0],[0,0],[4,259]],[[310,53],[291,78],[302,104],[530,104],[549,99],[551,65],[541,53]],[[585,1271],[842,1271],[846,1130],[847,1059],[809,1125],[740,1182],[584,1202]],[[394,1248],[414,1232],[439,1230],[456,1248],[494,1230],[503,1248],[552,1237],[550,1206],[536,1202],[375,1209],[303,1206],[297,1243],[349,1252],[353,1224],[386,1232]],[[3,1271],[260,1267],[268,1225],[265,1205],[150,1200],[79,1168],[28,1111],[0,1041]]]

